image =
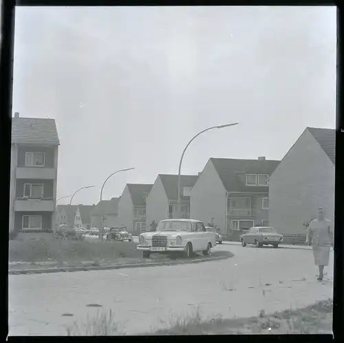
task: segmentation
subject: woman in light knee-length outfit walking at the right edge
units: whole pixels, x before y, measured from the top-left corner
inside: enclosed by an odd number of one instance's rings
[[[330,247],[332,245],[332,223],[324,217],[323,208],[318,208],[318,217],[310,222],[307,230],[306,243],[313,237],[314,263],[319,267],[319,278],[323,280],[323,268],[330,260]]]

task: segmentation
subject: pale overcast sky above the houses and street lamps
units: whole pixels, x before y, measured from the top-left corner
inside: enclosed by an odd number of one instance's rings
[[[57,196],[202,171],[210,157],[282,159],[336,125],[335,7],[17,7],[12,110],[54,118]],[[59,203],[68,203],[62,199]]]

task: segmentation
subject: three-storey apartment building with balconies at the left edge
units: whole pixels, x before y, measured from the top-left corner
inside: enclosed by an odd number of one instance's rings
[[[10,231],[54,226],[58,162],[54,119],[12,118]]]

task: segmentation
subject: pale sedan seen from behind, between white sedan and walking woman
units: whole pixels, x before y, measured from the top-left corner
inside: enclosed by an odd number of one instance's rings
[[[283,241],[283,234],[277,233],[274,228],[257,226],[250,228],[246,234],[241,234],[240,240],[243,247],[246,247],[246,244],[254,244],[256,247],[263,245],[278,247],[279,243]]]

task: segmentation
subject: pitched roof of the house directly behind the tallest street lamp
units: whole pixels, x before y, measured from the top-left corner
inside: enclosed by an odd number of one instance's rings
[[[177,200],[178,199],[178,175],[173,174],[159,174],[162,186],[166,192],[168,199]],[[198,179],[198,175],[180,175],[180,185],[193,187]],[[182,192],[182,190],[181,190]],[[190,197],[180,197],[181,200],[190,199]]]

